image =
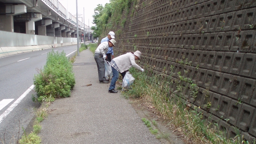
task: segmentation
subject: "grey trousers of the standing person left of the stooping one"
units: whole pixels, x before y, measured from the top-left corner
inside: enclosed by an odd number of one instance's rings
[[[95,52],[94,60],[97,63],[99,81],[105,80],[105,64],[103,56],[100,53]]]

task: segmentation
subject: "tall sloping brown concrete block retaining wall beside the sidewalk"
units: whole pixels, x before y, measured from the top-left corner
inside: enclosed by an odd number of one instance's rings
[[[123,27],[111,29],[114,53],[140,50],[140,65],[155,66],[154,74],[191,78],[198,95],[184,90],[181,98],[200,106],[230,137],[237,127],[246,140],[255,138],[256,1],[140,0],[132,9]]]

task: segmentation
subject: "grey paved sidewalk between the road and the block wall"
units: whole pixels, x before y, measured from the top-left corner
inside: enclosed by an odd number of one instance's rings
[[[108,93],[109,84],[98,82],[90,50],[80,52],[73,70],[71,96],[56,99],[41,122],[42,144],[160,144],[120,90]]]

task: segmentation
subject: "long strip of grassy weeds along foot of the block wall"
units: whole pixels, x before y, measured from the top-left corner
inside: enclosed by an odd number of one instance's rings
[[[186,86],[182,86],[182,82],[187,82],[188,85],[192,85],[191,80],[187,80],[179,75],[179,78],[175,81],[171,76],[165,74],[152,75],[147,74],[150,72],[145,70],[144,73],[138,72],[134,68],[130,69],[130,73],[135,78],[134,84],[132,84],[130,90],[122,93],[126,98],[134,97],[145,100],[149,105],[155,107],[154,113],[159,114],[170,128],[174,128],[179,132],[182,132],[186,138],[192,143],[212,143],[212,144],[241,144],[248,143],[237,132],[237,136],[234,138],[227,138],[227,133],[219,129],[218,124],[210,123],[209,120],[205,120],[200,107],[191,107],[191,104],[187,104],[186,100],[181,98],[183,91],[188,89]],[[171,91],[172,84],[176,84],[176,89]],[[194,90],[195,89],[195,90]],[[196,97],[196,86],[190,88],[190,97]],[[144,123],[150,127],[150,123],[145,118],[142,119]],[[154,123],[153,123],[154,124]],[[152,130],[150,130],[151,132]],[[152,131],[153,133],[153,131]]]

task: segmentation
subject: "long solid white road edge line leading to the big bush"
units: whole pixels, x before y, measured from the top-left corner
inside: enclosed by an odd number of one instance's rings
[[[26,90],[1,116],[0,116],[0,123],[6,118],[8,114],[21,102],[23,98],[34,88],[34,84]]]

